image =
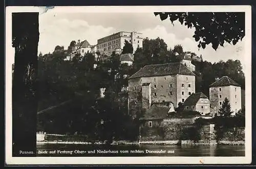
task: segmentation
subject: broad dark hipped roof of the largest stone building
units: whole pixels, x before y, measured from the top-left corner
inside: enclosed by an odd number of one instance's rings
[[[134,73],[130,78],[176,74],[195,75],[181,63],[167,63],[159,65],[146,65],[138,70],[136,73]]]

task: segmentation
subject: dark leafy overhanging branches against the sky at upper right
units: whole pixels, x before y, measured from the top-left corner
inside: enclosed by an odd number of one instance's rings
[[[187,28],[195,27],[195,41],[203,49],[208,44],[217,50],[224,41],[236,45],[245,36],[244,12],[155,12],[161,20],[168,18],[173,23],[179,20]]]

